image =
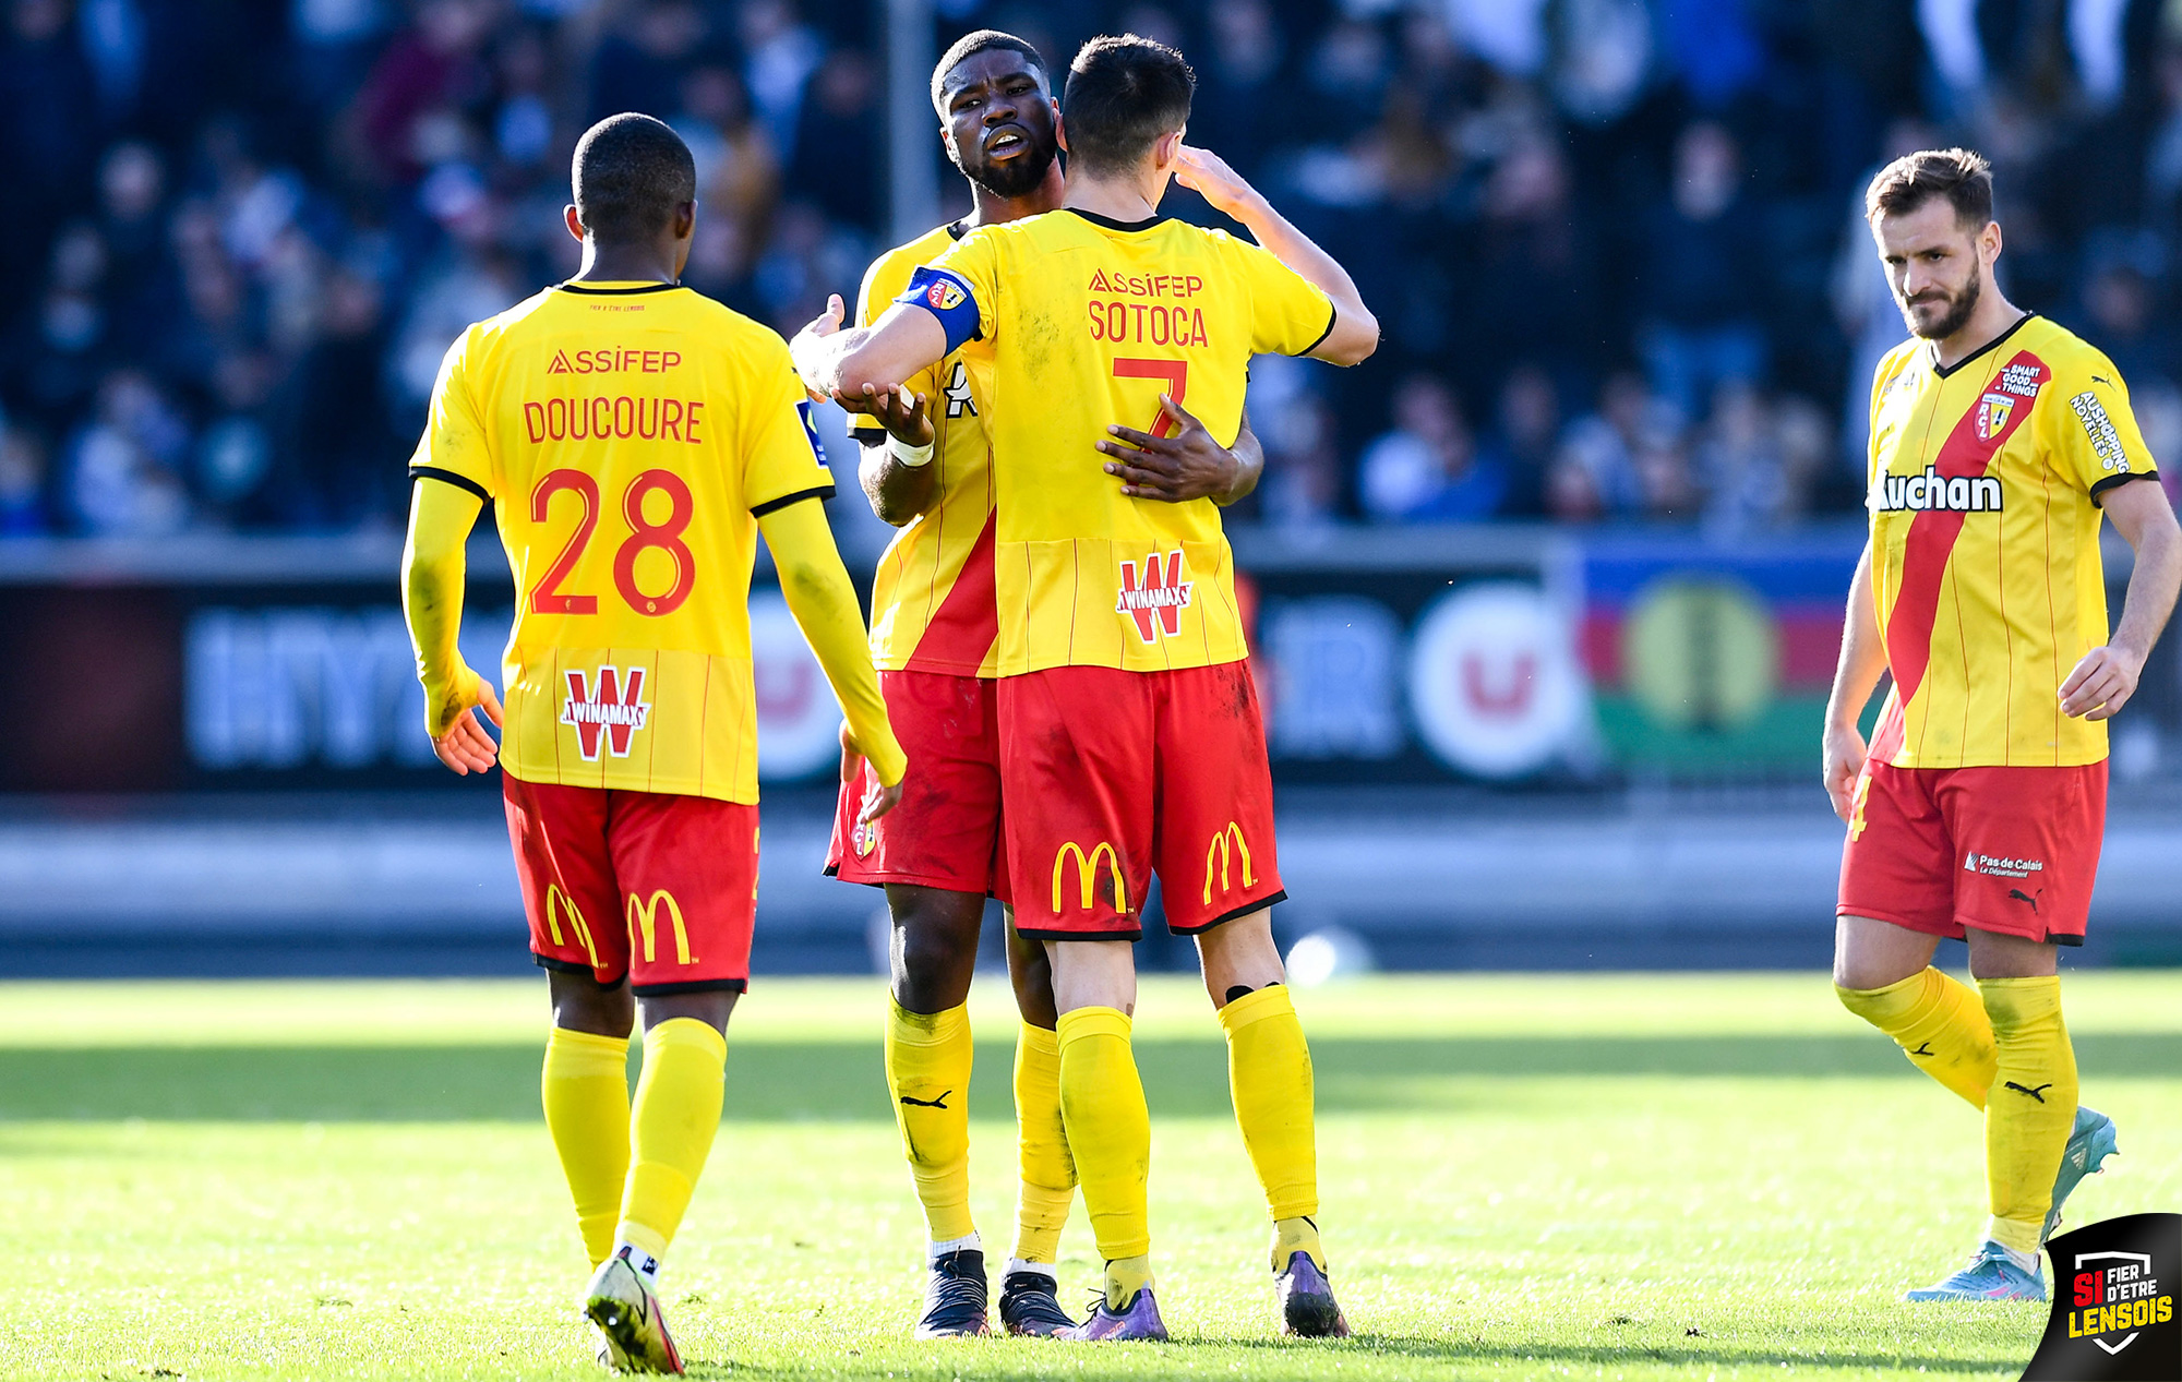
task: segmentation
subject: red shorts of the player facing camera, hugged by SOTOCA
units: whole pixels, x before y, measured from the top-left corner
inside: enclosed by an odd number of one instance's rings
[[[999,835],[999,724],[993,682],[945,671],[882,671],[895,739],[910,756],[901,804],[864,826],[879,789],[871,765],[842,783],[825,872],[849,883],[910,883],[1008,900]]]

